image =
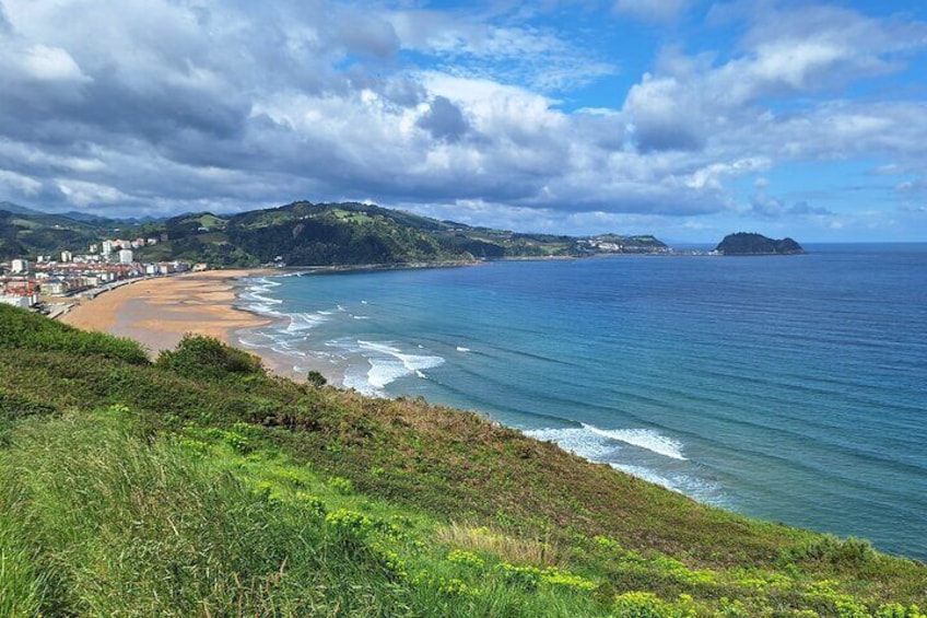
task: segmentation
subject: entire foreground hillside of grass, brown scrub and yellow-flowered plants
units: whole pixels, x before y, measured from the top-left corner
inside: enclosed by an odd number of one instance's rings
[[[927,568],[467,412],[0,306],[0,615],[916,618]]]

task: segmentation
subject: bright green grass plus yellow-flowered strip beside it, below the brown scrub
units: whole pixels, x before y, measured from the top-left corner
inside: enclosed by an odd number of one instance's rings
[[[483,549],[504,553],[490,562],[448,556],[459,539],[430,536],[436,522],[242,455],[230,431],[151,439],[116,406],[24,419],[12,434],[0,450],[4,618],[609,614],[594,584],[507,562],[527,544],[496,534]]]

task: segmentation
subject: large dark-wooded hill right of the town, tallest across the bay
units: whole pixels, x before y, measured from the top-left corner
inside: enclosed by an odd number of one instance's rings
[[[159,232],[154,226],[149,231]],[[408,264],[575,255],[576,238],[516,234],[356,202],[300,201],[224,219],[190,214],[164,223],[172,254],[215,266]]]

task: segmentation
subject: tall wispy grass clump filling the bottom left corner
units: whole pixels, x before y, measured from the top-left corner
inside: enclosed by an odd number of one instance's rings
[[[402,591],[364,556],[339,559],[316,515],[112,412],[23,423],[0,487],[3,616],[403,613]]]

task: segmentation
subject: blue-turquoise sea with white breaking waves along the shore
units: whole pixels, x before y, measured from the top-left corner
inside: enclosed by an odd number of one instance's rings
[[[243,342],[927,559],[927,245],[810,249],[260,279]]]

